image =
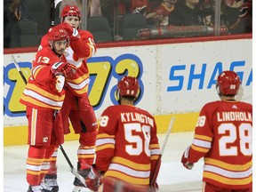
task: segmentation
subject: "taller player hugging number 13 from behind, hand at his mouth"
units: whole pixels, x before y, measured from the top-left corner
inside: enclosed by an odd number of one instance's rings
[[[75,65],[77,68],[75,76],[66,79],[64,86],[66,97],[60,112],[65,134],[70,132],[69,125],[71,124],[74,132],[80,134],[80,146],[77,149],[77,169],[86,177],[94,161],[98,128],[97,119],[87,94],[90,78],[86,60],[92,57],[97,48],[92,34],[79,28],[80,17],[80,11],[76,6],[67,5],[61,12],[61,24],[58,25],[61,28],[65,28],[70,38],[70,46],[65,50],[64,55],[68,63]],[[47,37],[44,36],[41,41],[41,47],[47,46],[46,39]],[[68,118],[71,124],[69,124]],[[45,183],[54,188],[53,192],[59,191],[56,161],[57,150],[52,155],[51,169],[44,180]],[[82,189],[83,191],[86,190],[84,184],[76,178],[74,185],[74,192],[82,191]]]

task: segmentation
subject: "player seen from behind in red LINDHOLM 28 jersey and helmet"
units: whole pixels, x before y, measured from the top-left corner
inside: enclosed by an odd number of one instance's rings
[[[218,76],[220,100],[204,105],[181,158],[192,169],[204,157],[204,192],[252,192],[252,105],[235,100],[240,84],[234,71]]]

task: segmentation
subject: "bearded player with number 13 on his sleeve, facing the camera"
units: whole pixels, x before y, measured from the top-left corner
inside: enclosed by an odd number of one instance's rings
[[[65,98],[66,78],[76,72],[63,53],[69,44],[63,28],[52,28],[48,33],[49,46],[36,52],[32,73],[20,102],[27,107],[28,118],[28,192],[52,191],[41,180],[50,167],[50,158],[56,146],[64,142],[61,114]]]

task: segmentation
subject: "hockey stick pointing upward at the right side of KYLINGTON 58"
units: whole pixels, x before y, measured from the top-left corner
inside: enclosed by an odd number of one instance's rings
[[[164,148],[165,148],[165,146],[166,146],[166,143],[167,143],[167,140],[168,140],[168,138],[169,138],[170,132],[172,131],[172,125],[173,125],[174,119],[175,119],[174,116],[172,116],[172,119],[171,119],[171,122],[170,122],[170,124],[169,124],[168,130],[167,130],[167,132],[166,132],[166,134],[165,134],[163,147],[162,147],[162,149],[161,149],[159,158],[158,158],[157,163],[156,163],[155,171],[153,172],[152,179],[150,180],[150,186],[153,186],[153,185],[156,183],[156,175],[157,175],[156,172],[157,172],[157,170],[160,168],[161,159],[162,159],[162,156],[163,156],[163,153],[164,153]]]

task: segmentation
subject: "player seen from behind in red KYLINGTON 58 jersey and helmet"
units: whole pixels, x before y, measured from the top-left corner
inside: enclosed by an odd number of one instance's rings
[[[100,116],[95,161],[103,177],[99,191],[148,191],[160,150],[154,117],[134,106],[139,93],[138,80],[124,76],[116,90],[120,105]]]

